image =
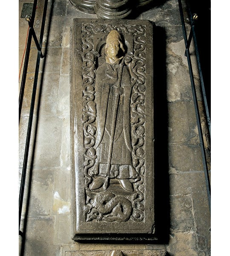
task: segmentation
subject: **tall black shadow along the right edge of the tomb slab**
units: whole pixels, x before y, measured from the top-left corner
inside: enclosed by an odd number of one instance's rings
[[[166,35],[162,27],[153,29],[153,95],[154,95],[154,169],[155,229],[158,243],[167,244],[170,233],[168,108],[166,79]]]

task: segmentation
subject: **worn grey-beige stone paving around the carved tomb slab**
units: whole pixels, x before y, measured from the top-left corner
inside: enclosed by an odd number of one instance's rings
[[[19,12],[22,3],[19,1]],[[38,1],[35,30],[39,34],[43,0]],[[69,33],[73,18],[96,18],[78,11],[69,0],[49,0],[35,102],[33,133],[23,205],[25,256],[64,256],[73,250],[164,249],[172,256],[210,255],[210,213],[201,160],[196,116],[177,0],[161,1],[136,19],[155,22],[154,118],[156,222],[158,244],[77,243],[71,237]],[[28,24],[20,19],[19,60]],[[189,30],[189,25],[187,25]],[[22,42],[22,43],[21,43]],[[191,51],[199,91],[196,58]],[[23,166],[29,102],[34,81],[36,48],[32,44],[20,120],[19,176]],[[202,110],[201,96],[198,95]],[[204,131],[206,129],[202,117]],[[204,132],[206,148],[208,142]],[[36,138],[36,140],[34,140]],[[35,143],[34,143],[35,141]],[[34,147],[33,147],[34,146]],[[33,151],[34,148],[34,151]],[[29,206],[26,199],[29,196]],[[20,238],[20,247],[23,246]],[[67,255],[67,254],[66,254]]]

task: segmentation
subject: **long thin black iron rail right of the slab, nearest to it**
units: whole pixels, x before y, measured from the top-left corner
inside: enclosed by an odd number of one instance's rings
[[[204,148],[204,139],[203,139],[203,134],[202,134],[201,119],[200,119],[200,115],[199,115],[198,100],[197,100],[197,96],[196,96],[196,87],[195,87],[194,76],[193,76],[192,62],[191,62],[191,58],[190,58],[190,51],[189,51],[189,48],[187,47],[188,39],[187,39],[186,28],[185,28],[185,23],[184,23],[184,15],[183,15],[181,0],[178,0],[178,6],[179,6],[180,15],[181,15],[181,25],[182,25],[182,29],[183,29],[184,43],[185,43],[185,47],[186,47],[186,55],[187,55],[189,73],[190,73],[190,82],[191,82],[191,87],[192,87],[193,101],[194,101],[194,107],[195,107],[195,113],[196,113],[196,122],[197,122],[198,134],[199,134],[199,140],[200,140],[200,146],[201,146],[201,155],[202,155],[202,163],[203,163],[203,168],[204,168],[207,199],[208,199],[209,209],[211,211],[211,187],[210,187],[207,159],[206,159],[205,148]]]

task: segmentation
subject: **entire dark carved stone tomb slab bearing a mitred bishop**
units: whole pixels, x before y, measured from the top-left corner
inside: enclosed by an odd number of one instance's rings
[[[73,239],[154,240],[152,24],[74,19],[70,55]]]

